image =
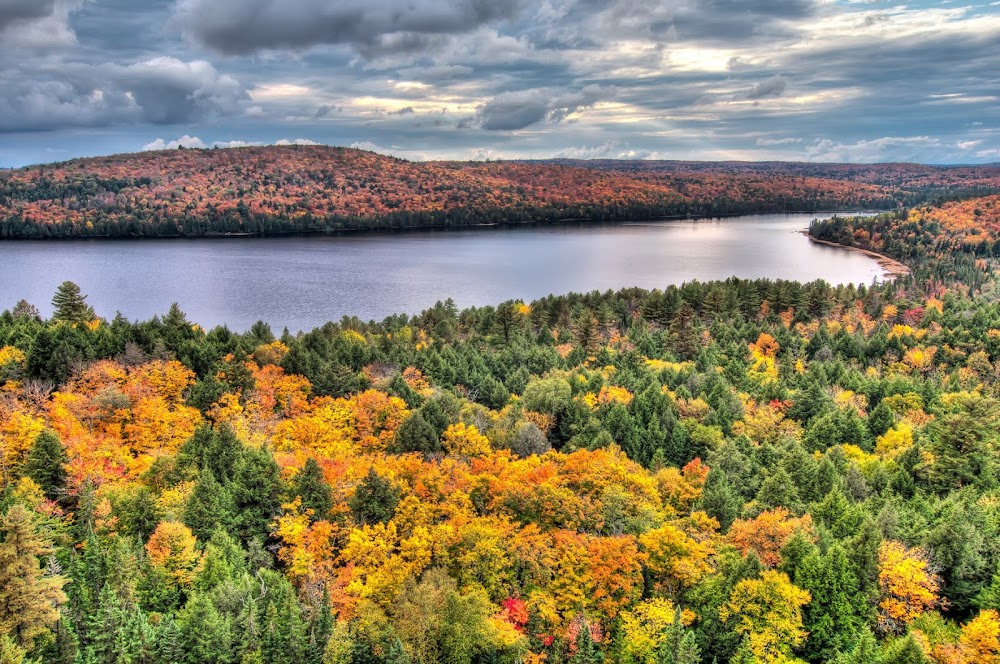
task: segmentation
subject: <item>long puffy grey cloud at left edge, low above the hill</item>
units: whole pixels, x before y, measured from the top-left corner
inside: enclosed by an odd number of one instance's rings
[[[246,90],[204,60],[70,64],[7,74],[0,130],[190,123],[241,113]]]

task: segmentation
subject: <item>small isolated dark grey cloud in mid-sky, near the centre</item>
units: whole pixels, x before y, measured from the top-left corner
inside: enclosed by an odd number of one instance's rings
[[[558,123],[613,93],[598,85],[555,96],[542,89],[504,92],[479,106],[476,119],[480,127],[489,131],[515,131],[542,121]]]

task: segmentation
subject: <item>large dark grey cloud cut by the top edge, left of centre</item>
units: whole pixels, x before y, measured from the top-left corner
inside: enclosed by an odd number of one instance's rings
[[[372,54],[421,50],[517,15],[521,0],[179,0],[175,22],[228,55],[349,44]]]

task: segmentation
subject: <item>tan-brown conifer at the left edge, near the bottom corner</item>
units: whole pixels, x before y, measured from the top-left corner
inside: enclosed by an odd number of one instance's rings
[[[53,547],[37,532],[23,505],[7,510],[0,534],[0,633],[10,634],[18,646],[30,651],[59,620],[66,579],[42,569],[42,559]]]

